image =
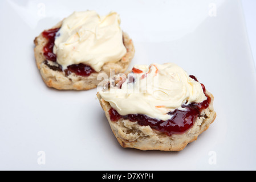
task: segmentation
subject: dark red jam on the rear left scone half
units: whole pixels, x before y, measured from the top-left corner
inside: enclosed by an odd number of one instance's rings
[[[54,41],[56,33],[59,31],[60,28],[54,28],[50,30],[43,31],[42,35],[44,38],[48,39],[48,43],[46,46],[43,47],[43,55],[47,60],[56,62],[57,57],[53,52],[54,49]],[[51,67],[50,67],[51,68]],[[61,68],[61,65],[59,65]],[[86,64],[73,64],[68,66],[66,70],[64,70],[66,75],[70,75],[71,72],[75,73],[79,76],[90,76],[91,73],[94,73],[94,69],[92,69],[89,65]]]

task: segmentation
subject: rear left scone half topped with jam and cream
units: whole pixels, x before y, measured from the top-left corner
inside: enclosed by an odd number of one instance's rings
[[[132,40],[111,12],[74,12],[34,40],[35,60],[47,86],[64,90],[96,88],[100,73],[123,73],[133,59]]]

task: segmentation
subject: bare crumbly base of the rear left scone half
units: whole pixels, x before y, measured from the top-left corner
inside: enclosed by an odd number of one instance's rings
[[[62,22],[59,22],[52,28],[58,28],[61,26]],[[47,42],[48,40],[43,37],[42,33],[34,40],[36,65],[45,84],[48,87],[59,90],[88,90],[96,88],[96,86],[101,82],[101,78],[97,79],[97,76],[100,73],[105,73],[109,77],[110,69],[115,69],[115,74],[125,72],[135,54],[135,48],[133,46],[132,39],[129,38],[128,34],[123,32],[123,42],[125,48],[127,48],[127,53],[121,60],[117,61],[116,63],[106,63],[103,65],[100,72],[91,73],[91,75],[87,77],[78,76],[75,75],[75,73],[71,73],[67,76],[64,71],[55,71],[48,66],[58,65],[55,62],[47,61],[48,65],[45,64],[46,58],[43,55],[43,47],[47,44]]]

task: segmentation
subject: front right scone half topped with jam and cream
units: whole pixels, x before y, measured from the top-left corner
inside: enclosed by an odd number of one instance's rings
[[[173,63],[135,65],[106,85],[97,98],[123,147],[180,151],[216,118],[213,95]]]

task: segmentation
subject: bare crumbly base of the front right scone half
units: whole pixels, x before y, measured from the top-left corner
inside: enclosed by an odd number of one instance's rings
[[[161,150],[161,151],[181,151],[186,145],[197,140],[198,135],[207,130],[210,124],[216,118],[216,112],[213,109],[213,95],[206,90],[210,96],[209,107],[202,110],[194,125],[185,133],[173,134],[168,136],[150,126],[140,126],[137,122],[131,122],[129,119],[119,119],[111,121],[108,110],[111,109],[109,102],[104,101],[100,94],[97,98],[108,119],[113,134],[122,147],[137,148],[139,150]]]

